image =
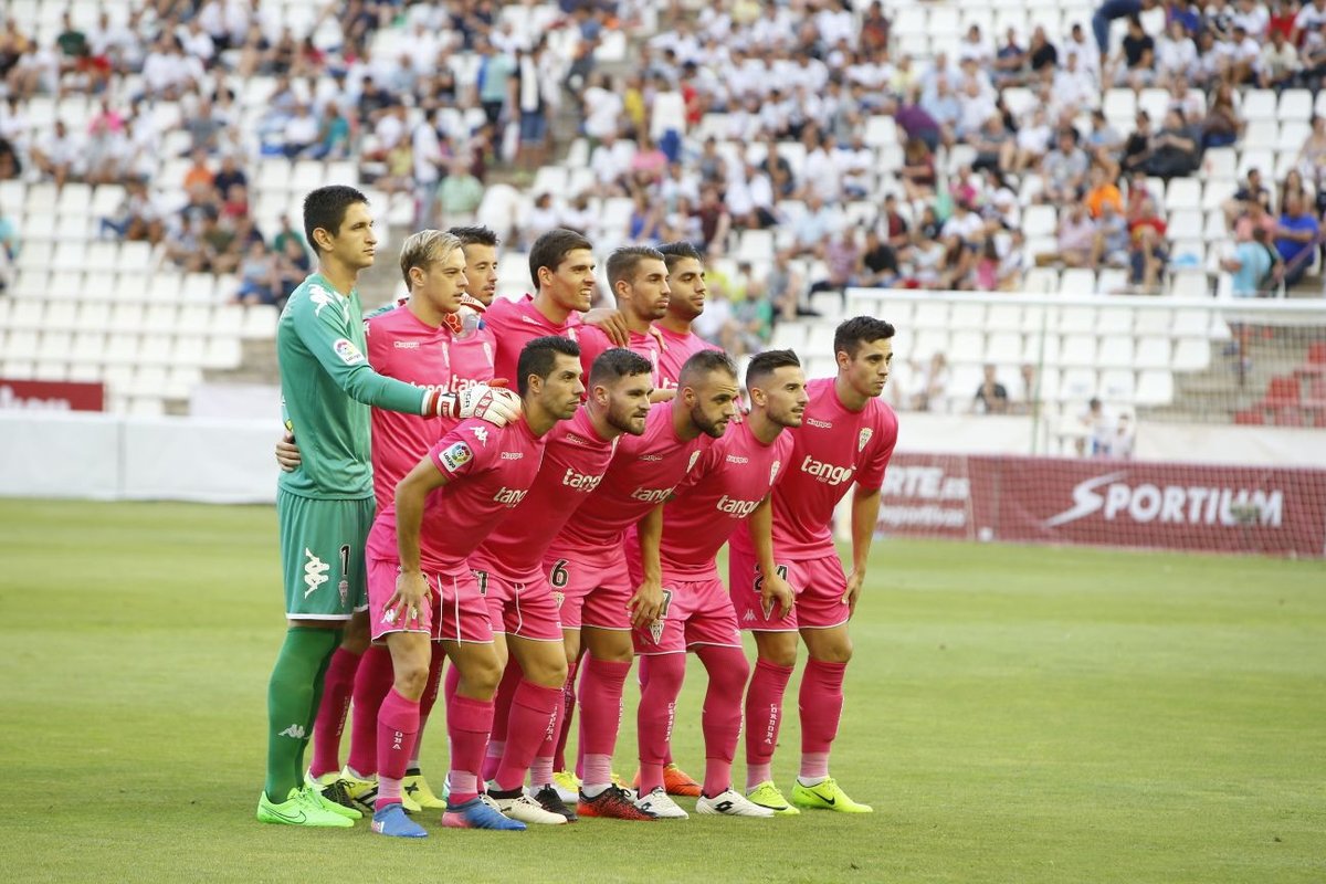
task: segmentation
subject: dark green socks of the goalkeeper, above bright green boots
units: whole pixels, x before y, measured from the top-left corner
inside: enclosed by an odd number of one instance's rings
[[[281,802],[302,783],[304,749],[322,696],[322,676],[341,630],[290,627],[267,687],[267,797]]]

